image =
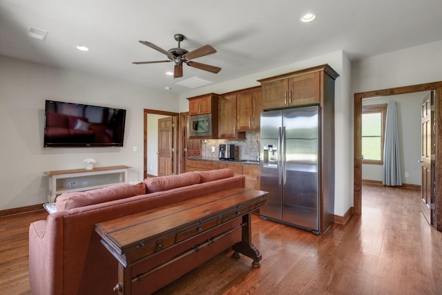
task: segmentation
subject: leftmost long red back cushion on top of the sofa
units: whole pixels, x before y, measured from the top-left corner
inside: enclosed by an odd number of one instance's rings
[[[64,193],[57,197],[55,207],[57,211],[70,210],[77,207],[84,207],[90,204],[99,204],[112,200],[129,198],[146,193],[144,182],[124,183],[93,189],[91,191],[79,191],[75,193]]]

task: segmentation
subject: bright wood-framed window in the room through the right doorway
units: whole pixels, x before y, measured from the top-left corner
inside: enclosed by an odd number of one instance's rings
[[[387,104],[363,106],[362,158],[363,164],[383,164],[385,119]]]

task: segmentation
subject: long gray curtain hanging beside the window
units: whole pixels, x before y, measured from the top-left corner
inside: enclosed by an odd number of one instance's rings
[[[387,122],[385,122],[384,142],[384,175],[383,184],[388,186],[402,185],[401,161],[399,159],[398,123],[396,102],[387,104]]]

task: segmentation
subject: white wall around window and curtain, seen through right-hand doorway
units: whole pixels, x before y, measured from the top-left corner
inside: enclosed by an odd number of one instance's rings
[[[398,118],[398,140],[401,159],[402,182],[421,185],[421,102],[429,92],[390,95],[387,97],[363,99],[363,105],[387,104],[396,102]],[[405,178],[405,172],[409,177]],[[383,180],[383,166],[376,164],[362,165],[364,180]]]

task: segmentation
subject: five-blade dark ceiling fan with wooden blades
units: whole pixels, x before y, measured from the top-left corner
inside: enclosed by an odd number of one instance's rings
[[[196,59],[198,57],[204,57],[205,55],[211,55],[213,53],[216,53],[215,48],[212,46],[204,45],[200,48],[197,48],[195,50],[192,50],[190,53],[189,51],[185,50],[184,48],[180,47],[181,41],[184,40],[184,35],[182,34],[175,34],[173,35],[176,41],[178,41],[178,47],[177,48],[171,48],[169,50],[164,50],[163,48],[156,46],[155,44],[148,42],[148,41],[139,41],[141,44],[144,44],[150,48],[153,48],[157,51],[160,51],[160,53],[164,53],[167,57],[169,57],[169,60],[160,60],[160,61],[133,61],[132,64],[157,64],[160,62],[175,62],[175,68],[173,70],[173,77],[179,78],[182,77],[182,64],[187,64],[188,66],[192,66],[193,68],[199,68],[200,70],[206,70],[211,73],[218,73],[220,72],[221,68],[218,68],[218,66],[210,66],[209,64],[201,64],[200,62],[193,61],[193,59]]]

